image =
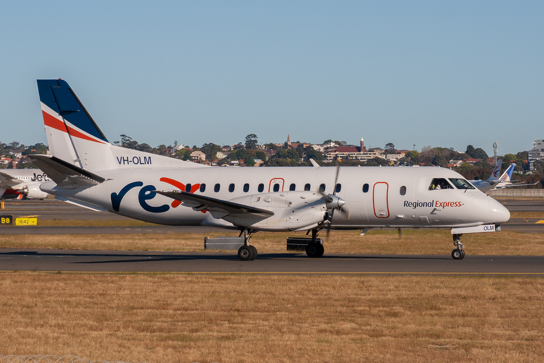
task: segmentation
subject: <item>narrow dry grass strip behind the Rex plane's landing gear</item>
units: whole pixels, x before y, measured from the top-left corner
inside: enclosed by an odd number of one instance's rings
[[[237,236],[238,233],[213,235]],[[321,235],[324,237],[325,231]],[[206,236],[206,233],[0,235],[0,248],[203,251]],[[251,238],[251,244],[259,253],[282,253],[286,251],[288,236],[304,237],[305,233],[258,232]],[[472,233],[463,235],[462,239],[469,255],[544,255],[543,233]],[[360,236],[359,231],[332,231],[325,242],[325,253],[449,255],[452,242],[449,230],[407,230],[402,232],[401,241],[396,231],[370,230],[364,236]]]

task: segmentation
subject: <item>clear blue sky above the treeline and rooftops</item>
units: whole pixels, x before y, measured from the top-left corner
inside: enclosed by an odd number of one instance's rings
[[[544,138],[544,2],[2,2],[0,140],[63,78],[110,141],[345,140],[499,154]]]

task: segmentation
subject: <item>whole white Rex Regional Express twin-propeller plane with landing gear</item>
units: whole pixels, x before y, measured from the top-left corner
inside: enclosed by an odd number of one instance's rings
[[[70,86],[39,79],[51,155],[32,155],[51,181],[41,190],[95,211],[165,225],[216,226],[244,233],[240,260],[254,260],[257,231],[310,231],[306,253],[323,255],[323,229],[500,230],[510,213],[453,170],[437,167],[208,167],[108,142]],[[409,247],[407,247],[408,249]]]

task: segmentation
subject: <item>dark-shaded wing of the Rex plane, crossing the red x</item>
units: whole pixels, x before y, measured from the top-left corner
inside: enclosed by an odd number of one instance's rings
[[[262,208],[250,207],[228,200],[210,198],[209,196],[200,194],[182,192],[181,190],[153,190],[153,192],[168,196],[175,200],[180,200],[188,207],[193,207],[194,210],[206,210],[211,212],[214,214],[214,218],[217,219],[228,216],[228,214],[246,214],[246,217],[254,216],[254,218],[274,216],[274,212]],[[248,214],[249,216],[247,216]]]

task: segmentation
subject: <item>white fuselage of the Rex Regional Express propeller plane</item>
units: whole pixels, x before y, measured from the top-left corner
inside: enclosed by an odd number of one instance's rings
[[[336,168],[157,168],[150,165],[96,171],[96,174],[109,180],[76,189],[59,188],[50,181],[42,184],[41,189],[57,198],[152,223],[242,225],[256,230],[293,231],[316,228],[318,223],[323,223],[325,201],[317,190],[320,184],[325,184],[325,192],[333,192]],[[254,220],[255,223],[228,216],[215,219],[209,212],[175,204],[171,198],[151,192],[180,189],[160,181],[162,178],[193,186],[206,184],[203,192],[197,189],[194,193],[272,210],[274,216]],[[433,178],[463,179],[453,170],[436,167],[341,167],[337,181],[341,190],[336,195],[345,205],[334,214],[332,228],[475,226],[504,223],[510,218],[504,206],[478,189],[429,190]],[[217,192],[216,184],[220,186]],[[234,184],[233,190],[231,184]],[[249,184],[247,191],[244,184]],[[262,191],[259,184],[263,184]],[[277,192],[274,192],[275,184],[278,184]],[[306,184],[310,184],[310,190],[305,190]],[[365,184],[368,184],[367,192],[363,192],[367,189]],[[405,187],[404,195],[401,195],[401,187]],[[119,210],[115,210],[114,201],[118,202]]]

